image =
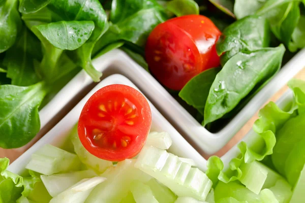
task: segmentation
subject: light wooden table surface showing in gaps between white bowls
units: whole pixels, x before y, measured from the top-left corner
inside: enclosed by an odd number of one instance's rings
[[[298,79],[302,79],[305,80],[305,68],[300,71],[295,78]],[[288,89],[287,86],[284,86],[280,91],[278,91],[275,95],[273,95],[269,101],[276,101],[278,100],[281,95]],[[63,116],[62,116],[63,117]],[[241,138],[243,136],[245,136],[245,134],[248,133],[248,131],[252,128],[255,120],[258,118],[258,112],[246,123],[245,126],[243,126],[238,132],[237,134],[231,139],[231,141],[219,152],[217,152],[215,155],[218,156],[222,156],[223,154],[225,154],[229,149],[231,149],[236,143],[238,143],[239,140],[241,140]],[[58,120],[59,121],[59,120]],[[26,146],[22,147],[22,148],[18,148],[18,149],[2,149],[0,148],[0,157],[8,157],[10,159],[11,162],[13,162],[16,158],[18,158],[24,151],[26,151],[29,147],[31,147],[35,142],[37,142],[42,136],[43,134],[46,133],[46,130],[42,130],[44,132],[40,132],[38,134],[38,136],[29,144],[27,144]],[[203,155],[204,156],[204,155]],[[207,156],[204,156],[205,158],[208,158]]]

